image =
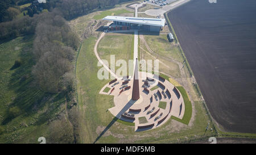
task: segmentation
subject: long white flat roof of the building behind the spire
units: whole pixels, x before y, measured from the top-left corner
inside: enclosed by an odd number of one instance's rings
[[[160,27],[163,27],[164,24],[166,23],[166,19],[164,19],[164,18],[139,18],[139,17],[131,17],[131,16],[106,16],[103,19],[104,20],[117,21],[117,22],[144,24],[144,25],[160,26]]]

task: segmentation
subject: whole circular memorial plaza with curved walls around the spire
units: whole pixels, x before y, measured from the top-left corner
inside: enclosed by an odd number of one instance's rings
[[[134,77],[128,76],[114,79],[100,90],[100,94],[114,95],[114,107],[109,111],[115,117],[126,122],[134,122],[135,131],[159,127],[172,115],[179,119],[183,118],[184,100],[172,83],[145,72],[138,72],[137,81],[134,82]],[[138,89],[135,90],[134,87]],[[133,100],[134,94],[138,99]]]

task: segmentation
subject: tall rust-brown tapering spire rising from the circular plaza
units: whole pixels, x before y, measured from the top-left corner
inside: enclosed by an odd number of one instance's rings
[[[134,68],[134,78],[133,78],[133,95],[131,97],[133,100],[139,99],[139,72],[138,72],[138,58],[136,58],[135,68]]]

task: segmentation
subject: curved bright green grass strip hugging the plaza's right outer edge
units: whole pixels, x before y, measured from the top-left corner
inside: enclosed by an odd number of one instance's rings
[[[176,118],[175,116],[172,116],[172,119],[175,119],[175,120],[177,120],[181,123],[184,123],[184,124],[188,124],[189,120],[191,119],[191,116],[192,116],[192,104],[191,104],[191,101],[188,98],[187,91],[185,91],[184,87],[179,86],[179,87],[177,87],[177,89],[180,91],[180,93],[181,93],[181,95],[184,99],[185,112],[184,112],[184,116],[183,116],[182,119]]]

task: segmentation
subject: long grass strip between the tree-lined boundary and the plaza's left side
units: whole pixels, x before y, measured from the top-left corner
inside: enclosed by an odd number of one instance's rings
[[[82,114],[80,140],[83,143],[93,143],[97,138],[96,129],[99,125],[108,125],[113,115],[108,111],[114,106],[113,96],[98,94],[109,81],[97,78],[97,58],[93,49],[96,37],[89,37],[82,43],[80,55],[77,58],[77,93]]]

